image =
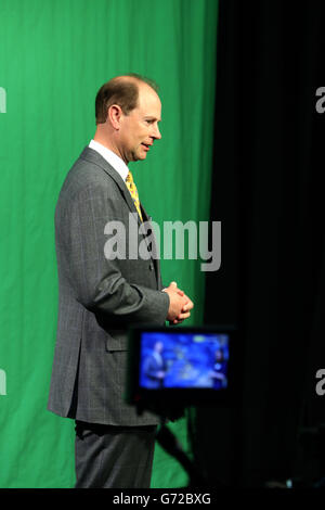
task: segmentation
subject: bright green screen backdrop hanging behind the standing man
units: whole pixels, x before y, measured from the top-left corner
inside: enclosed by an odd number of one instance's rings
[[[0,0],[0,487],[72,487],[74,422],[47,411],[55,342],[54,208],[94,135],[94,98],[113,76],[159,85],[162,139],[132,165],[141,201],[164,220],[208,220],[217,0]],[[161,260],[193,298],[200,260]],[[170,425],[188,451],[185,419]],[[159,446],[152,487],[185,486]]]

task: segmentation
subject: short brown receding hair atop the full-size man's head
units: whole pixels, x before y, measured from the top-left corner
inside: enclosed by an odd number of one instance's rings
[[[118,104],[123,114],[128,115],[139,104],[139,90],[141,87],[150,87],[155,92],[158,90],[155,81],[134,73],[116,76],[104,84],[95,99],[96,124],[106,122],[107,112],[112,104]]]

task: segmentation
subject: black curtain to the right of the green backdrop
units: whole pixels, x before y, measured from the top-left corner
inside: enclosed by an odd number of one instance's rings
[[[325,476],[325,4],[219,5],[210,219],[222,263],[206,277],[205,322],[238,328],[240,378],[236,406],[197,408],[194,456],[209,485],[313,485]]]

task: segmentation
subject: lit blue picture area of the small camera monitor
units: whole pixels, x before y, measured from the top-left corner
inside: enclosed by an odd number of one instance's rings
[[[141,387],[223,390],[227,387],[227,366],[229,334],[141,334]]]

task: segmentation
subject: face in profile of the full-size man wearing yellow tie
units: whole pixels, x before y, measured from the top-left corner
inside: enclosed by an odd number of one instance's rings
[[[128,164],[145,160],[154,141],[161,138],[158,123],[161,119],[161,103],[156,92],[146,84],[139,87],[138,106],[128,115],[121,114],[119,152]]]

